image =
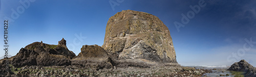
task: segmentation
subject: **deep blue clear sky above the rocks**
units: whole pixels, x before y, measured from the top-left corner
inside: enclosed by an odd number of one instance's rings
[[[205,1],[198,13],[189,6],[199,6],[203,2],[199,0],[20,1],[29,2],[29,6],[18,0],[0,1],[1,24],[6,17],[13,20],[9,23],[10,55],[16,55],[20,48],[33,42],[57,45],[62,37],[77,55],[82,45],[103,45],[105,26],[111,16],[122,10],[135,10],[163,21],[170,30],[181,65],[231,65],[245,59],[256,66],[256,2],[253,0]],[[112,8],[110,2],[116,6]],[[183,24],[182,14],[191,16],[191,12],[194,16]],[[184,27],[178,30],[174,22]],[[2,27],[0,31],[3,30]],[[4,42],[0,44],[3,46]]]

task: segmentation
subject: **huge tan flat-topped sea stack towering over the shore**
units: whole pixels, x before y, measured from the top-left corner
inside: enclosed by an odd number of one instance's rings
[[[126,10],[112,16],[102,48],[118,58],[177,63],[169,29],[158,17],[144,12]]]

